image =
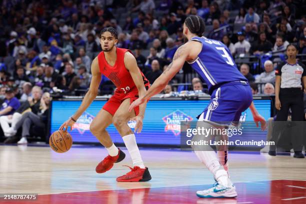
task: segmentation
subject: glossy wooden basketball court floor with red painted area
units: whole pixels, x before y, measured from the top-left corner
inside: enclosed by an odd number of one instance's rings
[[[266,153],[230,153],[234,199],[204,199],[196,190],[211,187],[212,175],[191,151],[140,148],[152,180],[119,183],[129,169],[126,157],[103,174],[96,164],[101,147],[72,146],[56,153],[48,146],[0,145],[0,193],[33,193],[36,200],[0,203],[306,203],[306,159]]]

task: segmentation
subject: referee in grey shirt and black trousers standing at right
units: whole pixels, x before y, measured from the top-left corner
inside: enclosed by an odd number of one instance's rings
[[[286,48],[287,61],[279,64],[275,70],[275,107],[276,122],[273,127],[271,141],[277,143],[277,137],[286,121],[289,108],[291,109],[291,142],[294,157],[304,158],[303,147],[303,88],[306,86],[306,66],[296,61],[297,48],[289,44]],[[303,83],[303,86],[302,86]],[[297,122],[294,122],[297,121]],[[276,145],[270,146],[269,155],[276,155]]]

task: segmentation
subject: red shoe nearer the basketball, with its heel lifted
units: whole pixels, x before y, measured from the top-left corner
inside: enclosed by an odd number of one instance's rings
[[[100,161],[95,167],[95,172],[104,173],[110,168],[112,168],[113,163],[122,161],[125,158],[125,153],[119,149],[118,155],[111,156],[108,154],[102,161]]]

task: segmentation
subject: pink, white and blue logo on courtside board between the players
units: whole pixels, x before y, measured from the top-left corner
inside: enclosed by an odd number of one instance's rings
[[[175,110],[164,116],[162,120],[166,123],[164,131],[170,130],[175,136],[178,136],[180,134],[180,121],[191,121],[192,117],[180,110]]]

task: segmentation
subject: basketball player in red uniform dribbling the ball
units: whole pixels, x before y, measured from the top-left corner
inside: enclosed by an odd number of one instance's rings
[[[148,168],[144,166],[135,135],[127,125],[128,120],[136,120],[135,131],[138,133],[142,129],[142,119],[146,103],[134,111],[128,112],[128,107],[132,101],[145,94],[149,87],[149,81],[139,70],[133,54],[128,49],[118,48],[117,32],[112,27],[103,28],[100,32],[100,43],[102,51],[93,59],[91,64],[92,78],[88,92],[85,94],[82,103],[77,111],[66,120],[59,129],[70,127],[77,118],[85,111],[97,95],[102,74],[108,77],[116,86],[113,96],[104,104],[96,117],[90,124],[90,131],[100,143],[106,147],[108,155],[98,163],[95,168],[97,173],[109,170],[113,163],[124,159],[125,154],[112,142],[106,127],[113,123],[116,127],[133,161],[131,171],[117,177],[118,182],[137,182],[151,179]]]

